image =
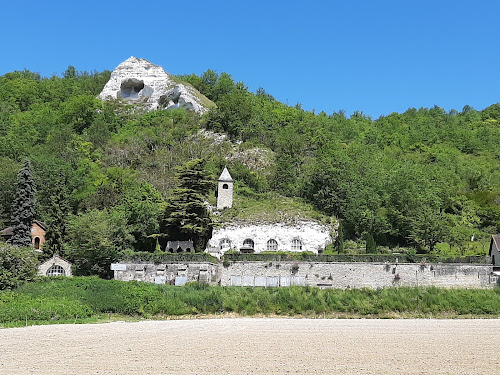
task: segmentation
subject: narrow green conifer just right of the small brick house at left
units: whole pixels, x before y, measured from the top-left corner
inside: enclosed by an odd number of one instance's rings
[[[69,213],[68,198],[65,191],[67,181],[61,176],[56,182],[47,207],[47,233],[45,234],[44,253],[63,255],[63,243],[66,238],[66,217]]]

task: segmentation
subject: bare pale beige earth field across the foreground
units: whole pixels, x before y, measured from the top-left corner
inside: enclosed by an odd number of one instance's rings
[[[0,330],[0,374],[491,374],[500,320],[195,319]]]

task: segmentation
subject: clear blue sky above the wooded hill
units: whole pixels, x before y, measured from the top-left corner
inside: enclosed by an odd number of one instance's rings
[[[328,114],[500,102],[500,1],[6,1],[0,75],[113,70],[130,56],[172,74],[227,72]]]

